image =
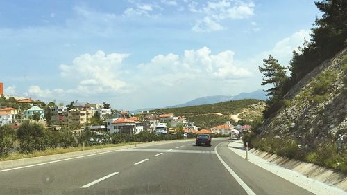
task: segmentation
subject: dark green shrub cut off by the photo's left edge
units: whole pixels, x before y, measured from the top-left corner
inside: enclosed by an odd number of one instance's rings
[[[0,157],[6,157],[13,147],[16,136],[9,124],[0,126]]]

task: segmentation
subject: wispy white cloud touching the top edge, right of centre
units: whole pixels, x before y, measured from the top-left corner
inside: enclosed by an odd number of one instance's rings
[[[191,12],[205,15],[204,19],[196,20],[192,28],[195,32],[211,32],[223,30],[221,21],[226,19],[245,19],[254,15],[254,3],[244,3],[242,1],[223,0],[218,2],[208,2],[198,8],[195,1],[188,4]]]

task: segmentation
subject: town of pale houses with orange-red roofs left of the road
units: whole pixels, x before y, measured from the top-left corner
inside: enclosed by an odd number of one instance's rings
[[[218,133],[230,135],[233,130],[246,131],[250,126],[234,126],[231,122],[220,124],[211,129],[201,129],[194,121],[188,121],[185,116],[173,113],[156,113],[155,111],[118,111],[110,104],[81,104],[71,102],[64,105],[24,97],[10,97],[3,94],[3,84],[0,85],[0,125],[12,124],[12,129],[18,129],[25,120],[44,124],[46,129],[59,130],[69,128],[74,133],[81,133],[85,128],[98,133],[138,134],[142,131],[153,133]],[[156,131],[164,127],[164,131]]]

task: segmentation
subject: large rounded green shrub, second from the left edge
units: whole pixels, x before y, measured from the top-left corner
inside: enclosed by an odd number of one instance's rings
[[[17,131],[20,151],[22,153],[46,149],[44,143],[44,126],[37,122],[24,121]]]

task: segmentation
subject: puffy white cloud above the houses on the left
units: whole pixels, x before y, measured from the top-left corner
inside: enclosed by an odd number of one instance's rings
[[[76,90],[70,89],[70,93],[121,93],[126,90],[126,82],[120,78],[121,63],[128,56],[124,53],[106,55],[100,50],[94,55],[86,53],[76,57],[71,65],[60,65],[60,74],[76,82]]]

